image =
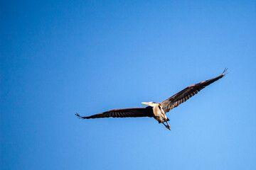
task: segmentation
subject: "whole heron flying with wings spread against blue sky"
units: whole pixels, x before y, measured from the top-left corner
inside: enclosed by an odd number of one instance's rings
[[[171,130],[170,125],[168,123],[169,118],[166,117],[166,113],[171,111],[171,109],[176,108],[181,103],[188,100],[195,94],[197,94],[201,89],[205,88],[206,86],[212,84],[213,82],[221,79],[227,74],[228,69],[224,69],[223,73],[220,76],[215,77],[213,79],[209,79],[206,81],[202,81],[198,84],[193,84],[188,86],[186,89],[178,92],[178,94],[174,94],[170,98],[167,98],[165,101],[161,103],[156,103],[153,101],[150,102],[142,102],[142,104],[148,105],[146,108],[122,108],[122,109],[114,109],[111,111],[106,111],[103,113],[98,113],[96,115],[90,116],[80,116],[78,113],[77,115],[79,118],[82,119],[90,119],[90,118],[128,118],[128,117],[151,117],[156,119],[159,123],[163,123],[165,127]]]

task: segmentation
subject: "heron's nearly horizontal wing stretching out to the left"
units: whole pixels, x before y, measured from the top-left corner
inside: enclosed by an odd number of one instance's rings
[[[151,107],[146,108],[124,108],[124,109],[114,109],[112,111],[106,111],[103,113],[98,113],[96,115],[90,115],[82,117],[76,113],[79,118],[90,119],[90,118],[128,118],[128,117],[153,117],[151,112]]]

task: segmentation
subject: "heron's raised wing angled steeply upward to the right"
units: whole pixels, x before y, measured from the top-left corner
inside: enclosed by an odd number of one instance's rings
[[[178,92],[178,94],[175,94],[170,98],[167,98],[165,101],[161,102],[161,108],[165,111],[165,113],[171,111],[171,109],[176,108],[181,103],[187,101],[188,98],[191,98],[192,96],[197,94],[199,91],[201,91],[201,89],[212,84],[214,81],[217,81],[218,79],[224,77],[225,74],[227,74],[227,70],[228,69],[224,69],[223,74],[220,74],[220,76],[218,77],[202,81],[201,83],[194,84],[192,86],[188,86],[186,89],[183,89],[182,91]]]

